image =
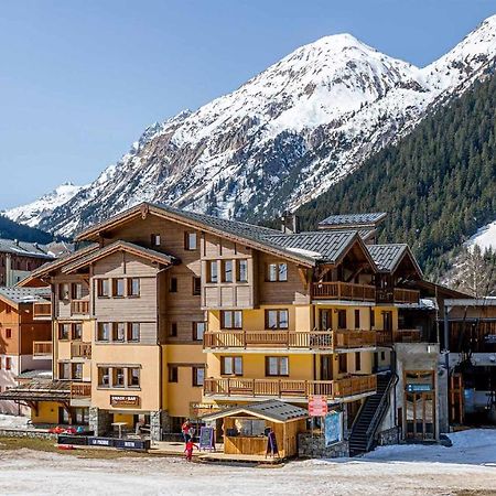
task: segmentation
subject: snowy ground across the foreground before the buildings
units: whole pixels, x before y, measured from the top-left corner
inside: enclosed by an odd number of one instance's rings
[[[1,451],[0,494],[85,495],[456,495],[496,494],[496,430],[451,435],[452,448],[386,446],[362,459],[281,467],[186,463],[181,459],[88,460]]]

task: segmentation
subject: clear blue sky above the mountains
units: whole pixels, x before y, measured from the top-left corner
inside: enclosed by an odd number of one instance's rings
[[[351,32],[425,65],[495,12],[494,0],[2,0],[0,209],[90,182],[148,125],[321,36]]]

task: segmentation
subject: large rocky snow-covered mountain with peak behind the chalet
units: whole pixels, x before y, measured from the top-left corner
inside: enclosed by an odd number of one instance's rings
[[[349,34],[323,37],[236,91],[149,127],[31,225],[69,235],[143,200],[249,220],[296,208],[461,95],[495,55],[496,15],[423,68]]]

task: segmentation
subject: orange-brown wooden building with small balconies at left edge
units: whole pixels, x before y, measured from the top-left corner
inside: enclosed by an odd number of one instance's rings
[[[50,288],[0,288],[0,392],[52,370]],[[0,413],[28,414],[29,405],[0,399]]]

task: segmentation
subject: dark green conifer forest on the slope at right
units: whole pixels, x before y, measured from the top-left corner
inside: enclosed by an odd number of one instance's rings
[[[388,212],[380,241],[408,242],[431,278],[478,227],[496,218],[496,75],[427,117],[303,205],[302,227],[330,214]]]

